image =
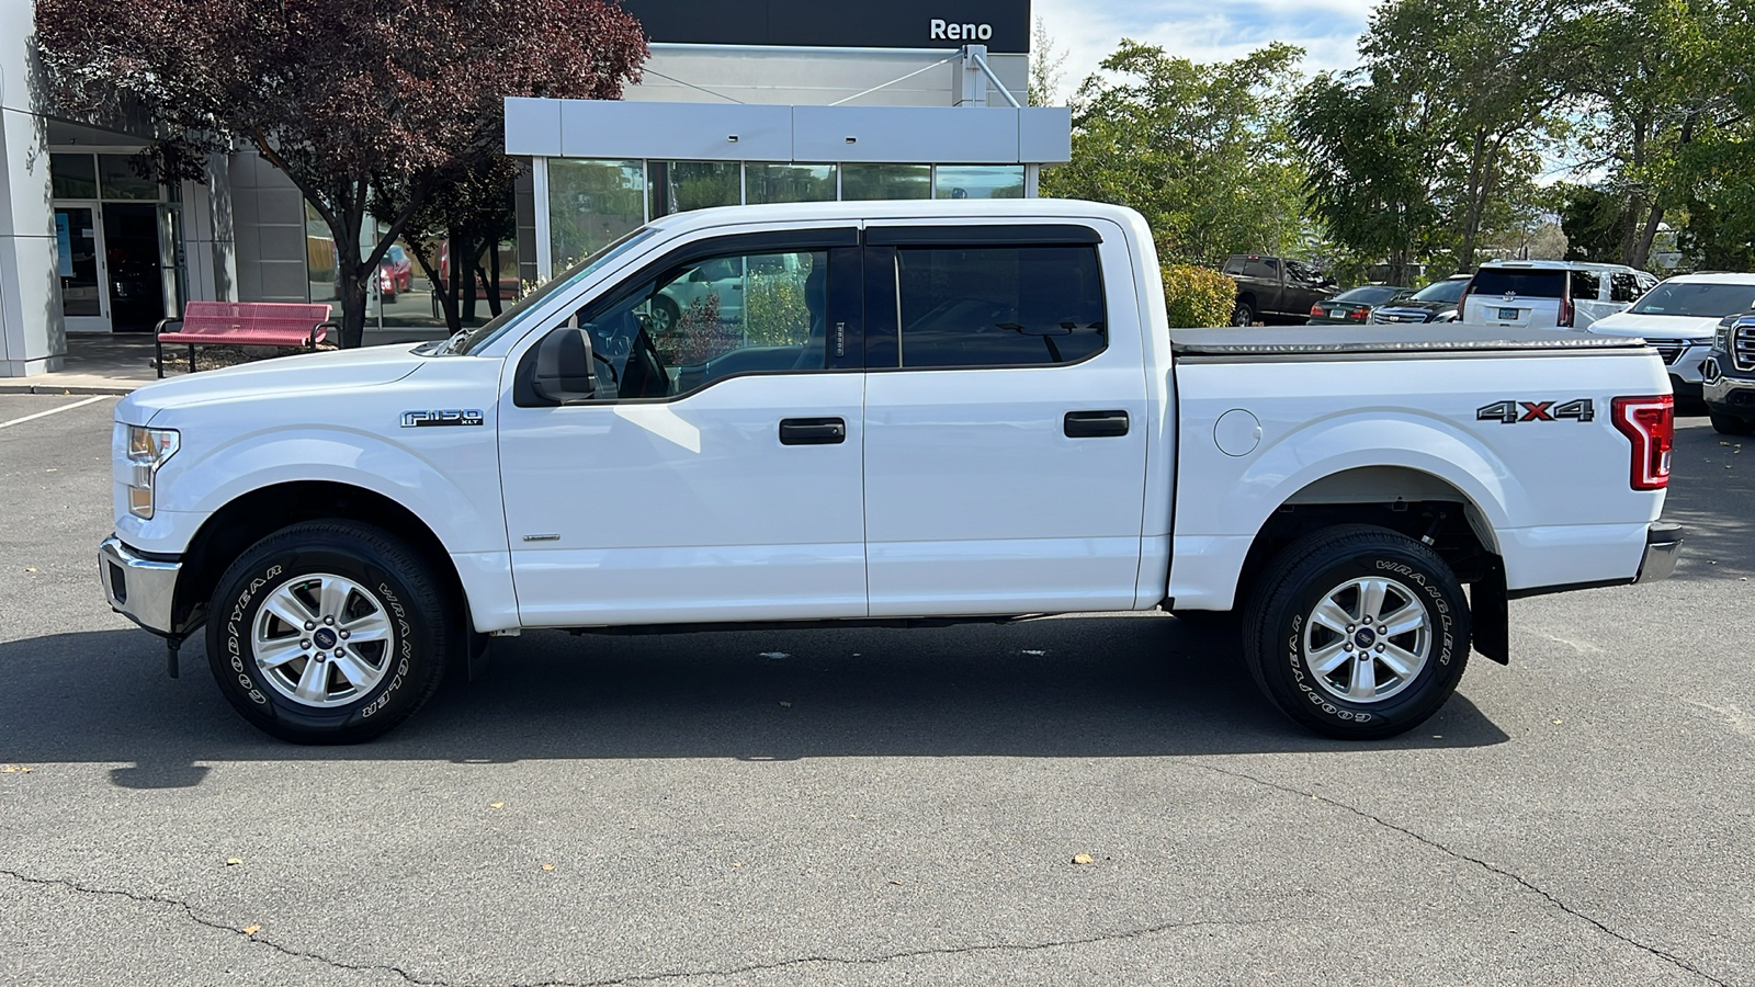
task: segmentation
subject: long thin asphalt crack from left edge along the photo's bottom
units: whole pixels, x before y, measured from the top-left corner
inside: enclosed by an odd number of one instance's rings
[[[321,964],[332,966],[335,969],[349,969],[349,971],[356,971],[356,973],[395,973],[397,976],[400,976],[407,983],[414,983],[416,987],[493,987],[493,985],[453,983],[449,980],[423,980],[423,978],[409,973],[407,969],[402,969],[400,966],[390,966],[390,964],[381,964],[381,962],[367,962],[367,964],[344,962],[344,961],[330,959],[330,957],[326,957],[323,954],[307,952],[307,950],[297,950],[297,948],[291,948],[291,947],[283,947],[281,943],[276,943],[274,940],[269,940],[269,938],[265,938],[261,934],[251,934],[251,933],[246,933],[246,931],[237,929],[233,926],[226,926],[225,922],[216,922],[212,919],[207,919],[207,917],[200,915],[198,911],[195,911],[195,906],[191,906],[186,901],[176,899],[176,897],[165,897],[165,896],[158,896],[158,894],[139,894],[139,892],[132,892],[132,890],[119,890],[119,889],[107,889],[107,887],[90,887],[90,885],[84,885],[84,883],[79,883],[79,882],[74,882],[74,880],[65,880],[65,878],[39,878],[39,876],[25,875],[25,873],[19,873],[19,871],[14,871],[14,869],[7,869],[7,868],[0,868],[0,876],[9,876],[12,880],[18,880],[18,882],[23,882],[23,883],[32,883],[32,885],[58,887],[58,889],[72,890],[75,894],[95,894],[95,896],[107,896],[107,897],[123,897],[123,899],[133,901],[137,904],[160,904],[160,906],[176,908],[176,910],[181,910],[184,913],[184,917],[188,917],[191,922],[195,922],[198,926],[204,926],[204,927],[209,927],[209,929],[216,929],[216,931],[221,931],[221,933],[232,933],[233,936],[242,936],[242,938],[249,940],[251,943],[269,947],[274,952],[279,952],[283,955],[288,955],[288,957],[293,957],[293,959],[305,959],[305,961],[312,961],[312,962],[321,962]],[[967,947],[935,947],[935,948],[920,948],[920,950],[902,950],[902,952],[883,954],[883,955],[870,955],[870,957],[802,955],[802,957],[792,957],[792,959],[779,959],[779,961],[772,961],[772,962],[751,962],[751,964],[746,964],[746,966],[734,966],[734,968],[725,968],[725,969],[674,969],[674,971],[663,971],[663,973],[634,973],[634,975],[627,975],[627,976],[611,976],[611,978],[605,978],[605,980],[537,980],[537,982],[526,982],[526,983],[511,983],[511,985],[505,985],[505,987],[616,987],[618,983],[653,983],[653,982],[658,982],[658,980],[697,980],[697,978],[702,978],[702,976],[739,976],[739,975],[744,975],[744,973],[765,973],[765,971],[774,971],[774,969],[786,969],[790,966],[809,966],[809,964],[876,966],[876,964],[883,964],[883,962],[893,962],[893,961],[899,961],[899,959],[918,959],[918,957],[930,957],[930,955],[965,955],[965,954],[981,954],[981,952],[1039,952],[1039,950],[1065,948],[1065,947],[1083,947],[1083,945],[1109,943],[1109,941],[1121,941],[1121,940],[1141,940],[1141,938],[1148,938],[1148,936],[1158,936],[1158,934],[1164,934],[1164,933],[1178,933],[1178,931],[1185,931],[1185,929],[1200,929],[1200,927],[1246,927],[1246,926],[1262,926],[1262,924],[1267,924],[1267,922],[1265,920],[1221,922],[1221,920],[1209,920],[1209,919],[1192,920],[1192,922],[1160,922],[1157,926],[1144,926],[1144,927],[1139,927],[1139,929],[1121,929],[1121,931],[1116,931],[1116,933],[1097,933],[1097,934],[1092,934],[1092,936],[1081,936],[1081,938],[1074,938],[1074,940],[1048,940],[1048,941],[1042,941],[1042,943],[976,943],[976,945],[967,945]]]

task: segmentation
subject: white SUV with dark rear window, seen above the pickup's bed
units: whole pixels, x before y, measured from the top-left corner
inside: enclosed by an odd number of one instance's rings
[[[1516,328],[1588,328],[1657,286],[1622,263],[1490,260],[1469,279],[1457,321]]]

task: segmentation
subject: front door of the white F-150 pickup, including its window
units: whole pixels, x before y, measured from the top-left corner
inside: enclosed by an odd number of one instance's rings
[[[721,237],[600,293],[555,327],[591,334],[590,400],[542,406],[535,346],[514,355],[500,471],[526,627],[865,615],[853,242]]]

